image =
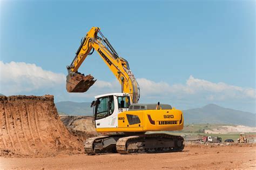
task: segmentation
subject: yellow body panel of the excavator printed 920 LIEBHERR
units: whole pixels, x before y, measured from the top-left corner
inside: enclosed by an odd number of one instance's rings
[[[118,127],[97,128],[97,132],[180,131],[184,124],[183,113],[176,109],[126,111],[117,119]]]

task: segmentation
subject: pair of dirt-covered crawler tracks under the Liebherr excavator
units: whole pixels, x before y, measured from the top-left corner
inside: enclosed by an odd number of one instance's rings
[[[120,154],[178,152],[183,150],[183,142],[182,137],[165,133],[104,135],[87,139],[84,142],[84,151],[89,155],[111,152]]]

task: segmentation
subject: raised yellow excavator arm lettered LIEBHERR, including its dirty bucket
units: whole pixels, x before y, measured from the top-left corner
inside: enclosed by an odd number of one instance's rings
[[[98,36],[98,33],[100,36]],[[114,76],[122,85],[122,93],[129,93],[132,103],[138,103],[139,85],[136,78],[132,74],[129,63],[122,57],[119,57],[112,45],[100,32],[100,28],[92,27],[83,38],[79,46],[76,57],[72,63],[67,66],[68,76],[66,79],[66,89],[68,92],[85,92],[92,86],[96,80],[91,75],[84,76],[78,72],[80,65],[84,62],[88,55],[93,51],[97,51],[105,64],[112,71]]]

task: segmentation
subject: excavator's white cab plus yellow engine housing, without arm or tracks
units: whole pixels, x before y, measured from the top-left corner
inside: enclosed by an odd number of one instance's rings
[[[95,97],[97,132],[147,132],[183,129],[183,113],[167,104],[131,104],[129,93]],[[159,106],[161,109],[157,109]]]

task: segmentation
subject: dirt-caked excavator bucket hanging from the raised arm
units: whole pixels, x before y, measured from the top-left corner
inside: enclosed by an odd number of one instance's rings
[[[84,76],[84,74],[74,73],[66,76],[66,91],[70,93],[83,93],[86,92],[96,80],[91,74]]]

